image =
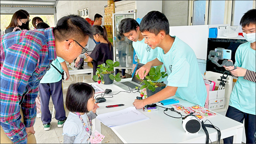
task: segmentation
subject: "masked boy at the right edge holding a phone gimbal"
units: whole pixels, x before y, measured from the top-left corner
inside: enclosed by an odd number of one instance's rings
[[[249,10],[241,18],[243,36],[247,43],[238,46],[235,55],[235,66],[225,67],[233,76],[238,76],[230,95],[226,116],[240,123],[244,121],[246,143],[255,143],[256,111],[255,111],[255,82],[256,82],[256,9]],[[232,60],[228,60],[232,61]],[[233,136],[223,139],[224,143],[233,143]]]

